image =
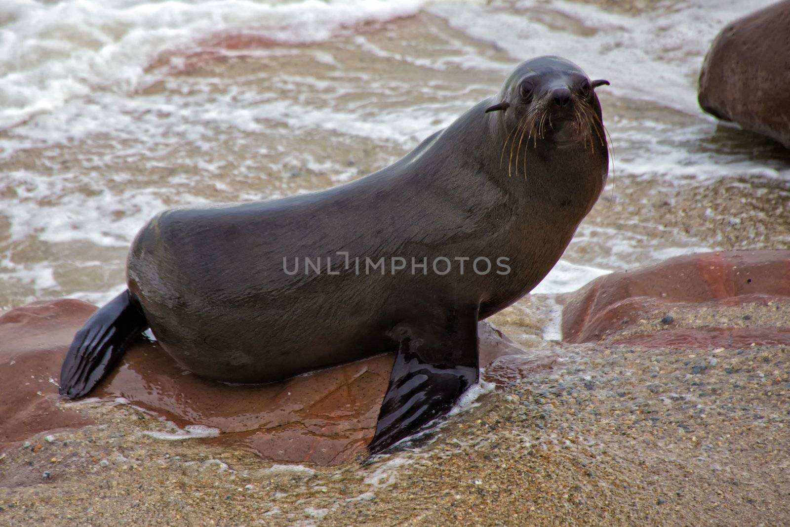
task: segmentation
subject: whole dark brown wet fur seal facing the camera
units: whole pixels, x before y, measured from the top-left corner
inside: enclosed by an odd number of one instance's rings
[[[88,393],[147,328],[221,382],[397,352],[369,450],[393,446],[477,382],[477,322],[535,287],[592,209],[609,162],[603,84],[533,58],[362,179],[160,213],[132,243],[128,289],[74,337],[60,393]]]

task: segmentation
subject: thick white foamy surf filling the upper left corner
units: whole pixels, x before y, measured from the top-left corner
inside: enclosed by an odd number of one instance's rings
[[[254,30],[281,43],[416,13],[420,0],[130,2],[5,0],[0,6],[0,129],[96,90],[132,92],[149,63],[218,32]]]

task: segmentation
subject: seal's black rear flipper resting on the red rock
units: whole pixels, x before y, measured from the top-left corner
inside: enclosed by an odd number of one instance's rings
[[[96,311],[77,331],[63,361],[58,390],[61,395],[73,399],[92,390],[148,326],[140,304],[128,289]]]

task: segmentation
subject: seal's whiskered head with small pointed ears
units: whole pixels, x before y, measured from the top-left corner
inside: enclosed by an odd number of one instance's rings
[[[573,62],[561,57],[538,57],[522,62],[486,113],[499,112],[508,134],[537,145],[538,141],[565,147],[604,145],[600,104],[595,88],[608,81],[591,81]]]

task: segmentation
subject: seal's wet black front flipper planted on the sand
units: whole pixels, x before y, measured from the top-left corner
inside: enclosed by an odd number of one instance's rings
[[[477,310],[445,321],[401,326],[401,348],[368,446],[379,454],[442,416],[477,382]]]

